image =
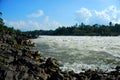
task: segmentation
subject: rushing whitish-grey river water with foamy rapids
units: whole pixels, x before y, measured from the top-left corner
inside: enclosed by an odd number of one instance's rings
[[[62,70],[110,70],[120,65],[120,37],[40,36],[32,39],[44,57],[54,57]]]

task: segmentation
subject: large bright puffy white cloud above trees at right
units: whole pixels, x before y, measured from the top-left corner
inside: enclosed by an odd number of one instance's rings
[[[85,24],[108,24],[110,21],[120,23],[120,9],[114,5],[100,11],[83,7],[76,11],[75,20],[78,23],[83,22]]]

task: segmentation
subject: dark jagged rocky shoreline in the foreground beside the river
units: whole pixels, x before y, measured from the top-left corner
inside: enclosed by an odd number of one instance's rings
[[[0,32],[0,80],[120,80],[120,67],[114,71],[61,71],[55,58],[43,58],[27,35]]]

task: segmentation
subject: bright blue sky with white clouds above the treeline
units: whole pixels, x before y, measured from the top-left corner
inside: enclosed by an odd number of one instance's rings
[[[120,0],[0,0],[2,18],[22,31],[120,23]]]

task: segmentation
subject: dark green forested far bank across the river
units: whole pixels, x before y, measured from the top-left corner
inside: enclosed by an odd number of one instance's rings
[[[31,35],[77,35],[77,36],[118,36],[120,35],[120,24],[109,25],[80,25],[62,26],[55,30],[35,30],[25,32]]]

